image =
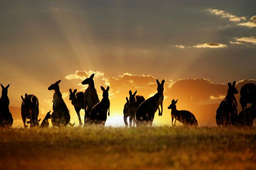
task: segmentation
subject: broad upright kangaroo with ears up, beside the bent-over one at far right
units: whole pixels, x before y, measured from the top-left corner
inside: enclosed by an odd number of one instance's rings
[[[236,82],[228,83],[227,96],[221,102],[216,111],[216,123],[218,126],[229,126],[237,124],[237,101],[234,94],[238,94],[236,90]]]

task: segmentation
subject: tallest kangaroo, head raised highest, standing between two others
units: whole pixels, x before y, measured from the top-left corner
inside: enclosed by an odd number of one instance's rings
[[[93,106],[99,103],[99,97],[97,91],[94,87],[93,77],[95,74],[92,74],[89,78],[85,79],[82,84],[88,85],[88,88],[84,91],[84,123],[89,123],[90,112],[92,111]]]

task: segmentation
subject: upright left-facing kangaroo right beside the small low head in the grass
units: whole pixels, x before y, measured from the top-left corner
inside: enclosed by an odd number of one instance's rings
[[[59,83],[61,80],[55,82],[54,84],[50,85],[48,90],[54,90],[53,94],[53,112],[52,112],[52,126],[55,127],[62,127],[71,125],[70,124],[70,111],[67,108],[66,103],[62,99],[62,94],[59,88]],[[71,125],[72,126],[72,125]]]

